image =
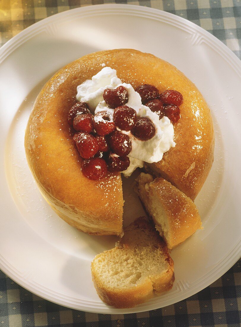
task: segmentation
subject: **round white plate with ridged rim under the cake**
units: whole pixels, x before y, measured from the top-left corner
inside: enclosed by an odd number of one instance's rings
[[[116,237],[89,236],[63,222],[41,197],[24,153],[25,126],[44,82],[72,60],[112,48],[150,52],[178,67],[206,98],[216,132],[215,161],[195,201],[204,230],[172,251],[172,290],[126,310],[104,304],[90,275],[91,260]],[[199,26],[138,6],[72,9],[12,38],[0,49],[0,268],[40,297],[106,314],[160,308],[217,280],[240,257],[240,72],[238,58]],[[137,200],[127,192],[130,203]]]

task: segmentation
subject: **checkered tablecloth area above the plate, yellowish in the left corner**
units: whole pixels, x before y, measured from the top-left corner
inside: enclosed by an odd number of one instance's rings
[[[0,0],[0,44],[58,12],[103,3],[128,3],[174,13],[203,27],[241,57],[241,0]]]

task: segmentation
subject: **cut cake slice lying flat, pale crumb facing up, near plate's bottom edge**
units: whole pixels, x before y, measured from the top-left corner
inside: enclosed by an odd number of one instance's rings
[[[102,301],[131,308],[169,290],[174,281],[173,261],[166,244],[146,218],[124,229],[116,247],[96,255],[92,280]]]

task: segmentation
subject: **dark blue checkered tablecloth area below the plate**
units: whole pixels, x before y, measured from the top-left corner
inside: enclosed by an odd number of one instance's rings
[[[26,291],[0,272],[3,327],[185,327],[241,325],[241,260],[215,283],[168,307],[128,315],[68,309]]]

